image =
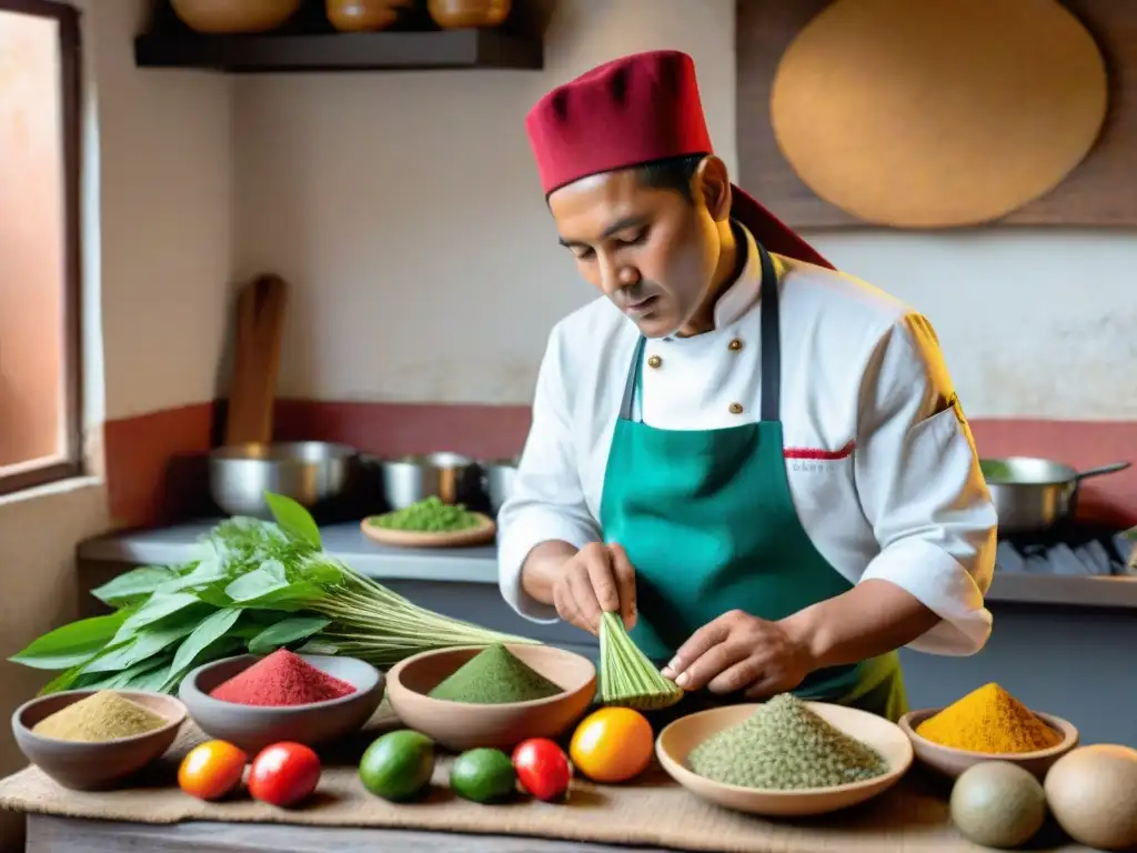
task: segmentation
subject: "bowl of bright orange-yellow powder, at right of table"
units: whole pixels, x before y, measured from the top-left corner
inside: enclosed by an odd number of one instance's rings
[[[916,759],[951,778],[984,761],[1019,764],[1038,778],[1078,745],[1078,729],[1031,711],[996,684],[944,709],[911,711],[899,721]]]

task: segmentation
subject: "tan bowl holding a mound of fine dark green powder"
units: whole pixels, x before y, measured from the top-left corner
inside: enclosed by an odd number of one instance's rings
[[[446,648],[392,666],[387,693],[407,727],[448,750],[509,751],[567,731],[592,702],[596,666],[553,646]]]

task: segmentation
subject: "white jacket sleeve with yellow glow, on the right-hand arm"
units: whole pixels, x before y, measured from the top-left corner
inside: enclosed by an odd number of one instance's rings
[[[861,392],[857,492],[880,553],[862,580],[886,580],[940,616],[916,651],[971,655],[987,643],[984,605],[997,519],[936,333],[910,314],[878,341]]]

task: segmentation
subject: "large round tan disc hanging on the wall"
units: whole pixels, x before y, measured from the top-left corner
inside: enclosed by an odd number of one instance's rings
[[[1101,133],[1105,63],[1054,0],[837,0],[783,55],[770,113],[821,198],[903,229],[997,220]]]

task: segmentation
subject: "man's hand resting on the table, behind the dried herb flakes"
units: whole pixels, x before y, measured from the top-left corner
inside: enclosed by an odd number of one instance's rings
[[[794,689],[812,669],[808,651],[781,624],[736,610],[692,633],[663,676],[684,690],[761,699]]]

